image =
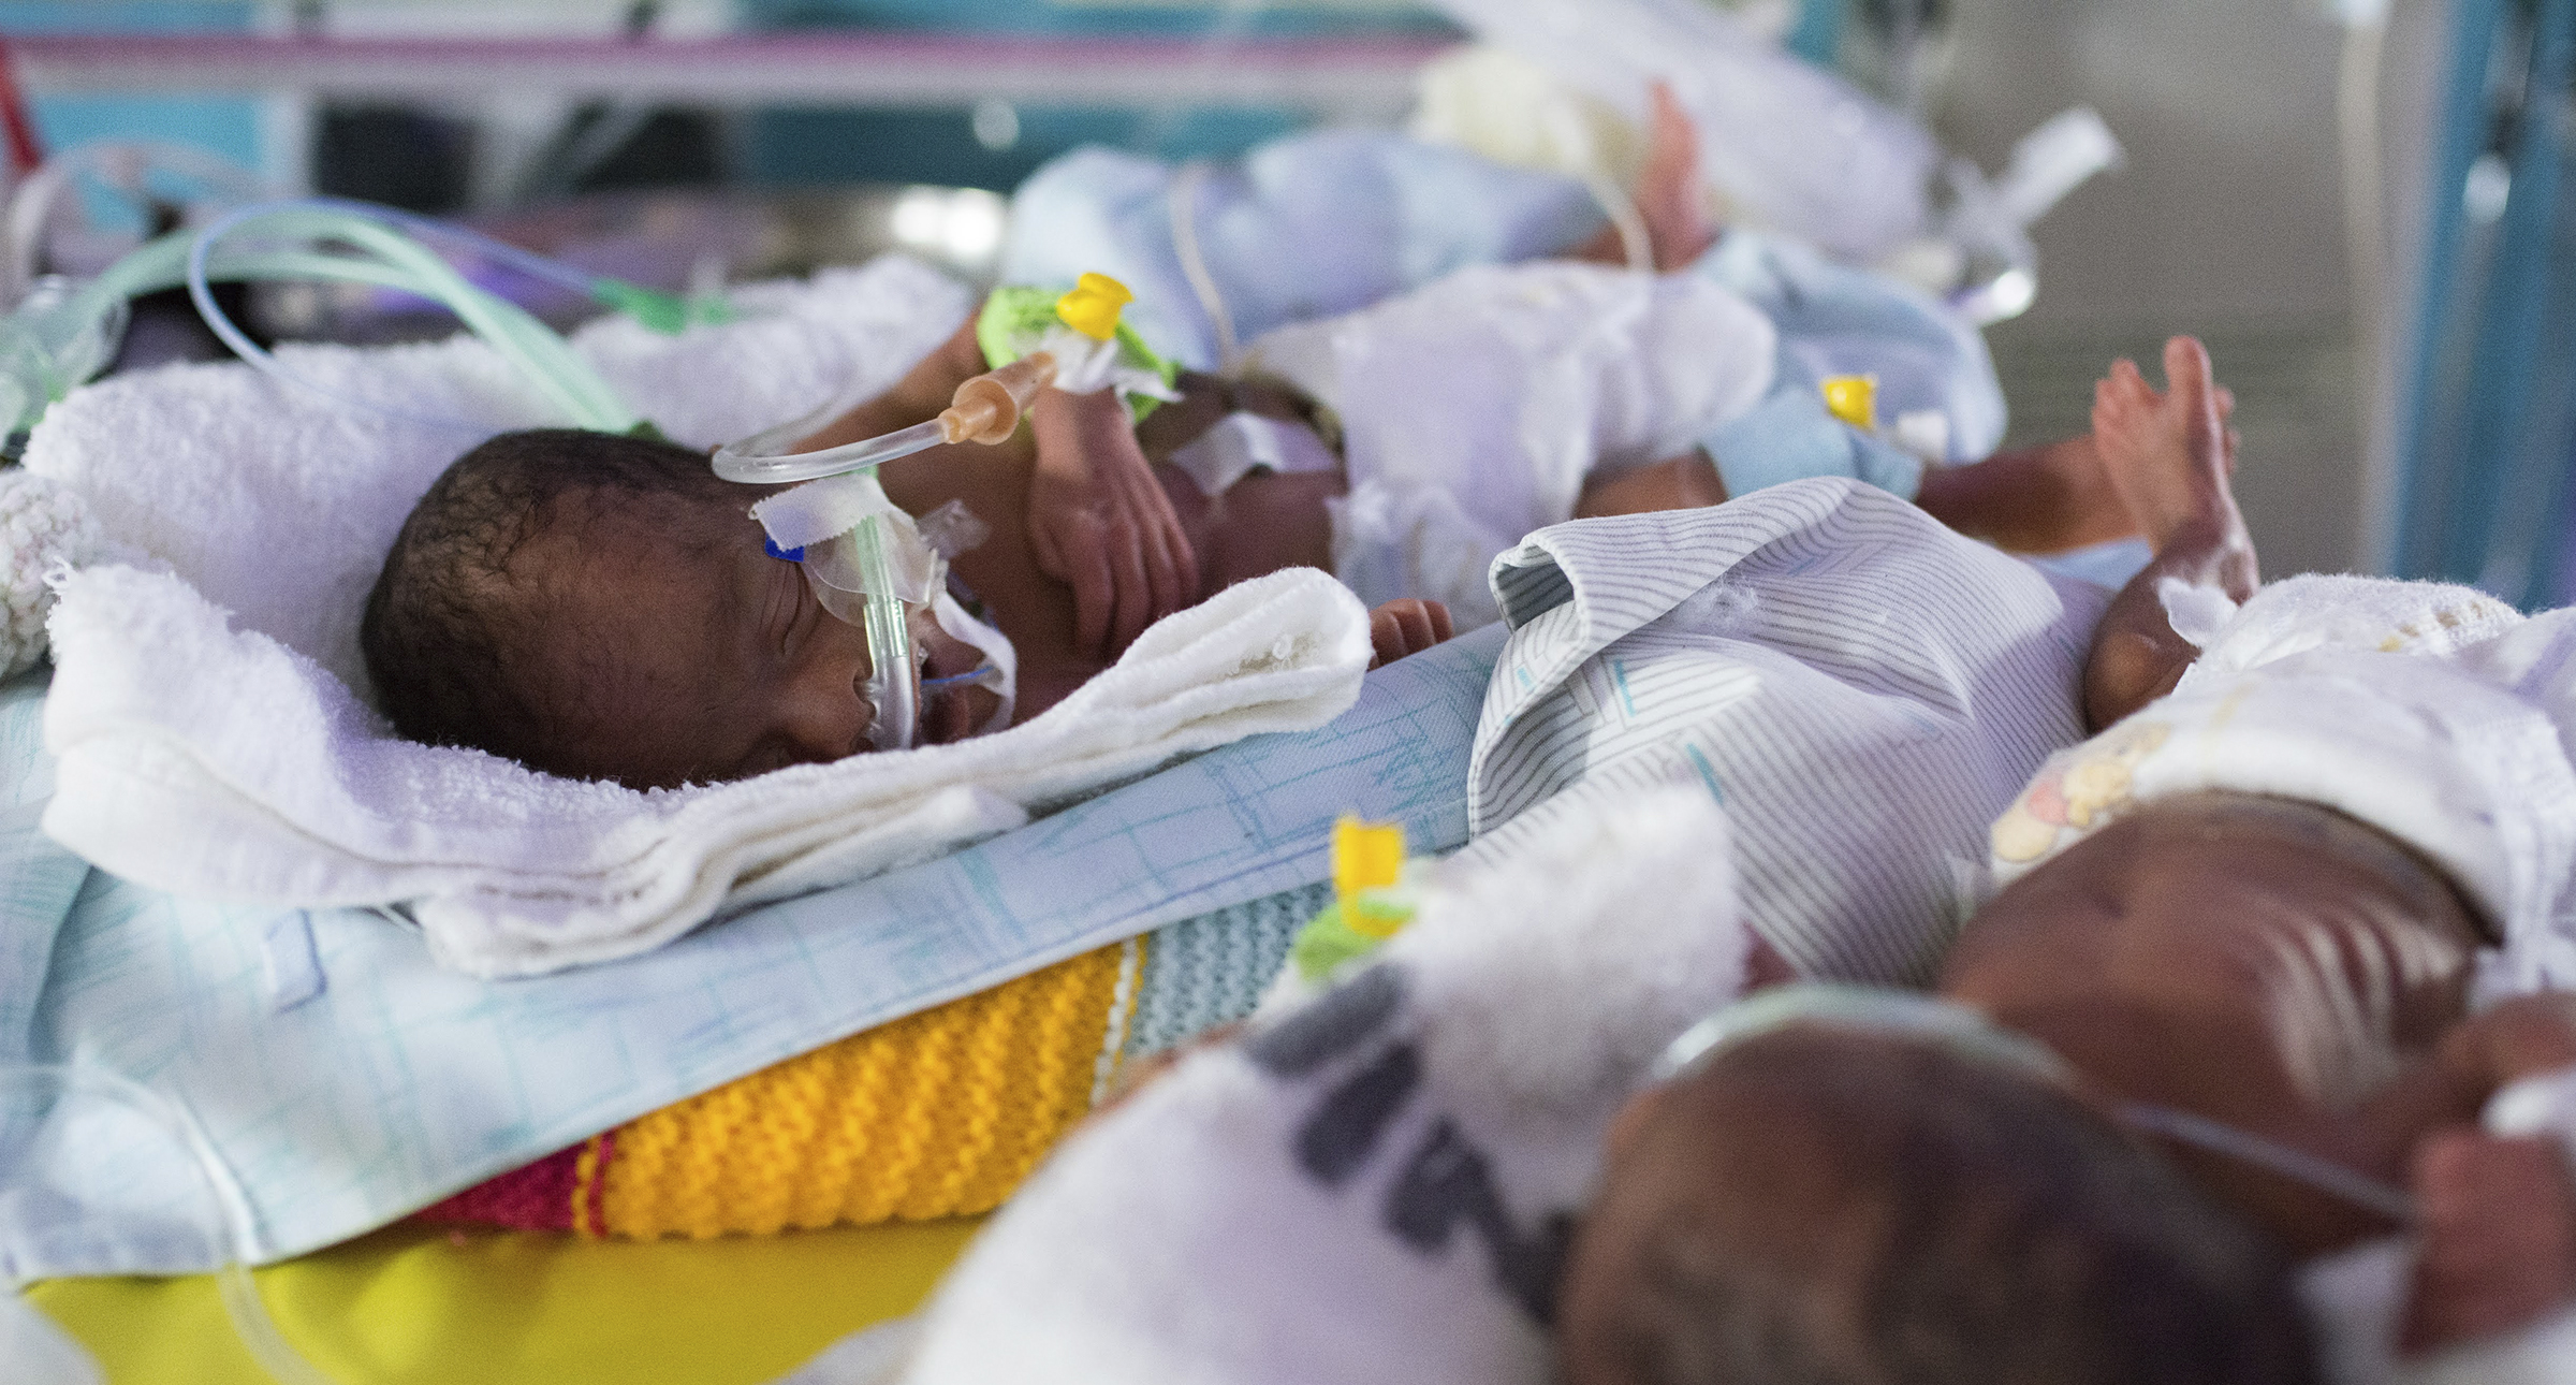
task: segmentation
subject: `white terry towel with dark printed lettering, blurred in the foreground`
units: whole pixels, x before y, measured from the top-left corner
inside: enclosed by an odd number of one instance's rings
[[[1435,865],[1365,971],[1074,1133],[904,1380],[1546,1380],[1602,1128],[1741,989],[1731,883],[1726,816],[1687,788]]]

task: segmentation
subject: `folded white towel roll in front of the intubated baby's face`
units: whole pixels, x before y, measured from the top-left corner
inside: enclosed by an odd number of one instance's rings
[[[170,574],[98,566],[54,610],[44,829],[129,880],[255,904],[410,901],[430,953],[533,976],[719,909],[837,886],[1255,731],[1340,716],[1368,613],[1288,569],[1170,615],[1046,716],[945,747],[636,793],[392,736],[340,680]]]

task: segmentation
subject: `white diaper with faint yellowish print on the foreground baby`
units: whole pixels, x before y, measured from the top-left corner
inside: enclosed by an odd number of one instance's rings
[[[2424,852],[2504,945],[2476,996],[2576,986],[2576,608],[2524,618],[2434,582],[2293,577],[2233,608],[2169,582],[2200,659],[2048,759],[1994,821],[2009,886],[2138,803],[2303,798]]]

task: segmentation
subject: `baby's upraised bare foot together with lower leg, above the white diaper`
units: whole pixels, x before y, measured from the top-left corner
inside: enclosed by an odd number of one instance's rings
[[[2084,721],[2097,731],[2172,692],[2200,656],[2164,618],[2159,587],[2166,577],[2218,587],[2239,602],[2257,587],[2254,538],[2228,489],[2233,458],[2210,353],[2192,337],[2164,342],[2164,378],[2159,394],[2138,366],[2120,360],[2094,386],[2102,466],[2156,548],[2094,631],[2084,664]]]

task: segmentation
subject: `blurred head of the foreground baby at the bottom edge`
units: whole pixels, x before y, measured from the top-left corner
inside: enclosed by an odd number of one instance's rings
[[[2102,1115],[1826,1025],[1620,1115],[1558,1315],[1577,1385],[2313,1380],[2280,1251]]]

